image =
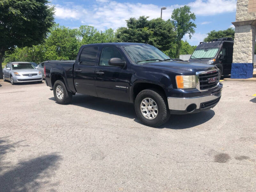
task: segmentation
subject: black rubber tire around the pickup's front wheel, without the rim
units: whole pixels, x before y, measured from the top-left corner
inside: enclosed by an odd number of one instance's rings
[[[146,118],[140,110],[140,104],[145,98],[151,98],[156,102],[158,111],[154,119]],[[138,118],[143,122],[143,124],[150,127],[158,127],[166,123],[170,118],[170,110],[168,108],[166,96],[158,90],[146,89],[141,91],[135,99],[134,106]]]

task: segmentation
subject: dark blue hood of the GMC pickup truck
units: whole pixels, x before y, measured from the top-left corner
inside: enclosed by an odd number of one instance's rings
[[[181,75],[195,75],[198,71],[216,69],[216,67],[213,65],[187,61],[161,61],[154,63],[143,63],[141,65],[147,68],[159,68],[162,70],[168,70]]]

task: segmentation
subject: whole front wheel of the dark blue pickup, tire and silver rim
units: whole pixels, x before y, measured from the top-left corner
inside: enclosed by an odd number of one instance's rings
[[[170,118],[166,96],[154,89],[141,91],[135,99],[135,112],[143,124],[158,127]]]

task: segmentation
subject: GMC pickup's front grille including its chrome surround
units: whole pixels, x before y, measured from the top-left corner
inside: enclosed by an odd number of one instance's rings
[[[216,87],[220,82],[220,74],[219,70],[210,70],[210,71],[200,71],[196,73],[197,75],[197,84],[196,88],[199,91],[207,91],[208,89],[212,89]],[[209,79],[214,78],[215,82],[210,82]]]

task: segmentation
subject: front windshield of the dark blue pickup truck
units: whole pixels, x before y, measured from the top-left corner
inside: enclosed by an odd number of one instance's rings
[[[123,48],[133,63],[147,63],[170,59],[170,57],[151,45],[125,45]]]

